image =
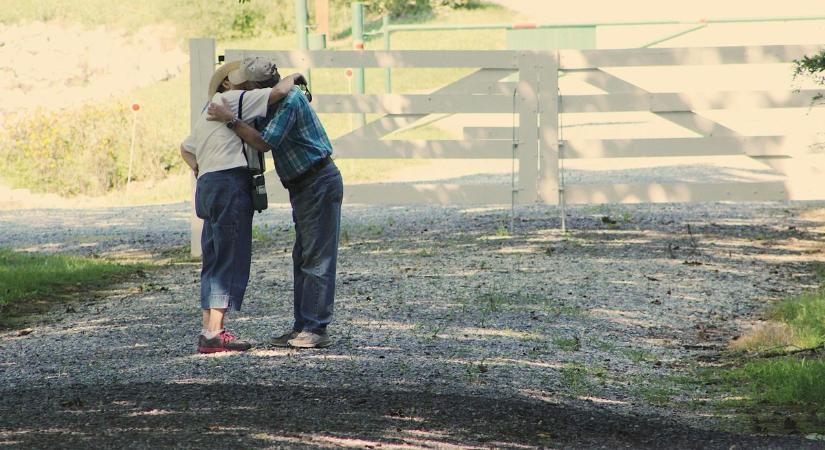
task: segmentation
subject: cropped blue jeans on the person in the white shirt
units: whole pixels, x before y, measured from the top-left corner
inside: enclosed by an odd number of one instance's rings
[[[251,189],[246,167],[198,178],[195,213],[203,219],[202,309],[241,309],[252,263]]]

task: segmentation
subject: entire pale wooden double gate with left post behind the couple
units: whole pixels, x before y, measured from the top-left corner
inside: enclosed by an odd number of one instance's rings
[[[794,164],[806,153],[793,136],[742,136],[700,114],[702,110],[737,108],[805,108],[825,91],[722,91],[713,83],[700,92],[648,92],[610,73],[610,68],[644,66],[760,65],[790,63],[819,51],[817,46],[652,48],[554,51],[260,51],[227,50],[226,60],[248,56],[272,58],[281,67],[304,68],[475,68],[448,86],[418,95],[324,95],[313,102],[320,113],[377,113],[382,117],[333,141],[339,158],[518,159],[518,183],[460,185],[407,183],[352,185],[345,202],[367,204],[558,204],[772,201],[823,199],[821,156]],[[190,42],[192,120],[206,102],[214,71],[211,39]],[[518,81],[508,82],[506,79]],[[568,95],[559,77],[575,74],[600,93]],[[697,137],[630,139],[560,139],[565,114],[644,111],[695,133]],[[518,117],[512,129],[468,127],[462,140],[382,140],[402,126],[429,114],[491,113]],[[823,125],[825,129],[825,125]],[[515,153],[514,153],[515,148]],[[786,181],[756,183],[647,183],[560,186],[560,161],[582,158],[746,155],[788,175]],[[813,161],[813,162],[812,162]],[[276,179],[269,179],[270,199],[286,201]],[[193,225],[193,233],[196,225]],[[194,241],[194,239],[193,239]]]

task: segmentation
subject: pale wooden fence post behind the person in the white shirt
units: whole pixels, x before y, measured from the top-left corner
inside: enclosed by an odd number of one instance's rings
[[[191,127],[203,111],[203,105],[209,100],[207,90],[209,79],[215,71],[215,40],[189,40],[189,123]],[[190,241],[192,257],[201,256],[201,231],[203,221],[195,215],[195,178],[192,178],[192,217],[190,223]]]

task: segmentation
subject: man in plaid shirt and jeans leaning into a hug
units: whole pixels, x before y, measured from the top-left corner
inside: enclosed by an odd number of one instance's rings
[[[274,338],[276,346],[327,347],[332,320],[341,203],[341,173],[332,145],[307,95],[293,87],[259,133],[237,119],[227,102],[209,105],[209,120],[225,123],[252,147],[272,149],[275,169],[289,190],[295,223],[292,330]]]

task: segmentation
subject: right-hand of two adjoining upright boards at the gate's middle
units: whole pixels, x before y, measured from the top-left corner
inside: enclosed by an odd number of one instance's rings
[[[540,56],[539,74],[539,199],[548,205],[564,202],[559,185],[559,63],[557,52]]]

